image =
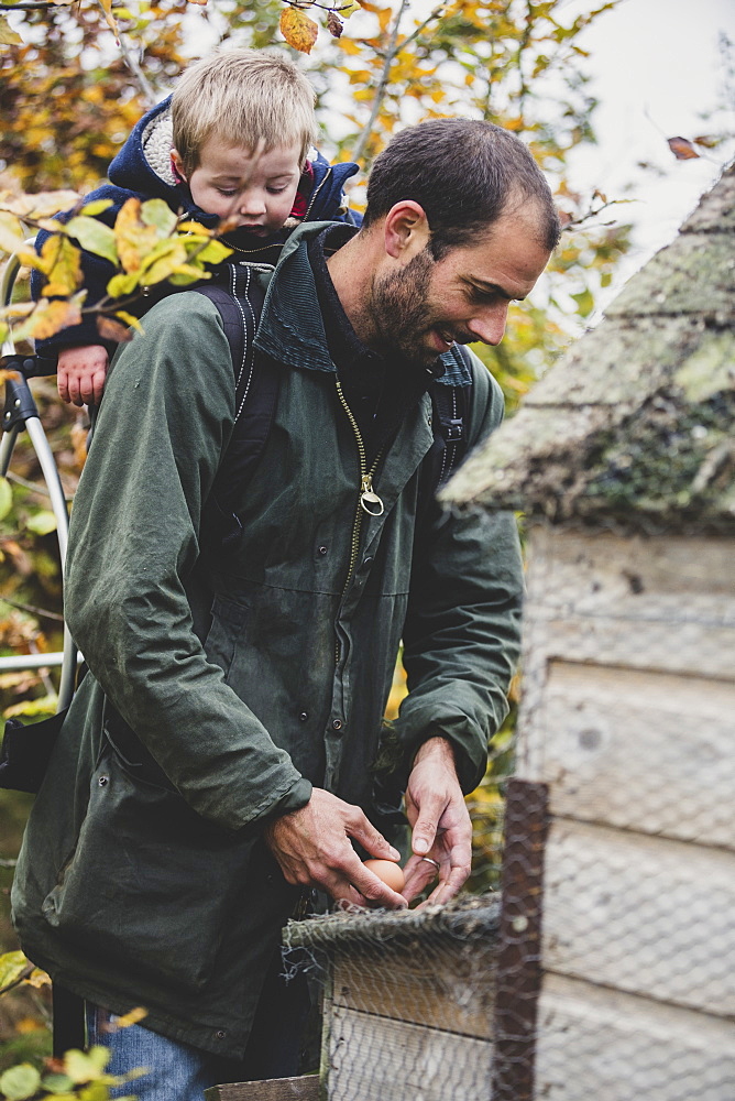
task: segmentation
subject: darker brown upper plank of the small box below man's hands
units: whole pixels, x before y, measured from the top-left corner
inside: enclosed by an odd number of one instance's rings
[[[495,994],[496,946],[432,945],[415,952],[387,947],[339,953],[333,1003],[397,1021],[490,1039]]]

